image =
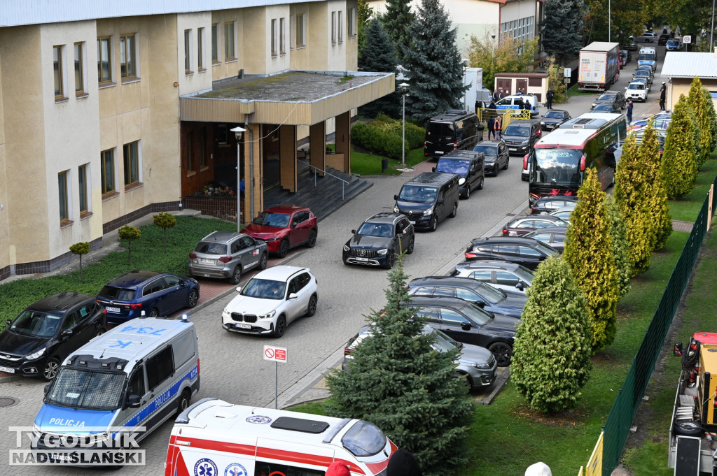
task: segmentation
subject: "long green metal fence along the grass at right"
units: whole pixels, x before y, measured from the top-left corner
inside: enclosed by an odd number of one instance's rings
[[[717,185],[717,177],[713,180],[713,187],[714,185]],[[682,294],[690,280],[703,238],[707,233],[707,225],[714,214],[716,202],[717,193],[713,193],[712,203],[710,203],[710,195],[705,199],[693,225],[692,233],[685,243],[680,259],[665,288],[665,293],[657,306],[655,316],[652,317],[652,322],[645,332],[645,339],[642,341],[635,359],[632,360],[632,366],[627,372],[622,389],[619,390],[607,416],[603,427],[605,435],[602,450],[602,476],[609,476],[612,473],[622,455],[627,435],[630,434],[630,425],[635,419],[637,409],[640,408],[640,402],[645,395],[645,389],[647,389],[647,382],[650,381],[650,374],[655,369],[655,361],[660,355],[660,349],[662,349],[672,324],[675,311],[678,309]]]

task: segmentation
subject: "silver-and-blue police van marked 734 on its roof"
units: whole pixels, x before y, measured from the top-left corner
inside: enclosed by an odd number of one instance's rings
[[[139,441],[189,407],[196,392],[199,348],[194,324],[186,315],[181,320],[132,319],[65,359],[45,387],[32,447],[57,450],[60,442],[67,449],[63,441],[75,442],[82,435],[100,442],[116,438],[120,427],[145,427],[134,437]]]

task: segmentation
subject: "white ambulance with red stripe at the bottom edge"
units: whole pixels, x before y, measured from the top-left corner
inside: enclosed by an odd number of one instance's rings
[[[201,399],[172,429],[165,476],[324,476],[334,461],[352,476],[386,476],[396,445],[379,427]]]

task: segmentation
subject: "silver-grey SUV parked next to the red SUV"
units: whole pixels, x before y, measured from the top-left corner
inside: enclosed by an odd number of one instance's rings
[[[229,278],[239,283],[244,271],[267,267],[267,244],[245,233],[215,231],[201,239],[189,253],[189,275]]]

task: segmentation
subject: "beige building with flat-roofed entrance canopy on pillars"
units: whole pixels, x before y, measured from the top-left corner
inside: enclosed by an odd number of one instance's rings
[[[351,110],[394,89],[392,74],[356,72],[356,0],[246,4],[4,6],[0,280],[51,271],[73,243],[100,248],[206,185],[236,189],[237,175],[250,178],[242,217],[256,215],[265,188],[295,186],[306,135],[313,165],[348,171]]]

